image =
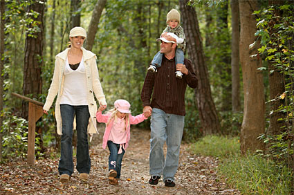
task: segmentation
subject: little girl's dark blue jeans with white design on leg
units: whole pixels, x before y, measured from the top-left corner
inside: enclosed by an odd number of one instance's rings
[[[109,170],[116,170],[118,173],[116,178],[120,178],[120,170],[122,169],[122,157],[125,154],[125,149],[122,148],[122,153],[118,154],[120,145],[113,143],[112,141],[107,141],[107,146],[109,148],[110,154],[108,159]]]

